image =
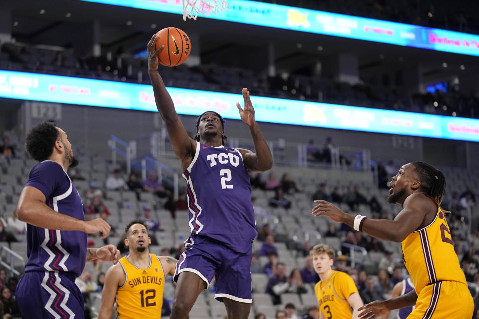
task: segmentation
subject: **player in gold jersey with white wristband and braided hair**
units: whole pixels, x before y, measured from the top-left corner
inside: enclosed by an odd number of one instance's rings
[[[446,189],[443,173],[423,162],[402,166],[390,182],[388,202],[402,210],[394,220],[346,214],[324,200],[314,201],[314,216],[327,216],[382,240],[401,242],[404,265],[415,289],[359,308],[360,318],[376,318],[392,309],[415,306],[408,319],[471,318],[474,304],[454,252],[449,226],[440,207]]]

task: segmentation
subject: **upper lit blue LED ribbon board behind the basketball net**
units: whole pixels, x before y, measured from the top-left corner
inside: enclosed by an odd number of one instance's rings
[[[181,0],[80,0],[182,14]],[[229,8],[209,19],[479,56],[479,35],[362,18],[292,6],[228,0]]]

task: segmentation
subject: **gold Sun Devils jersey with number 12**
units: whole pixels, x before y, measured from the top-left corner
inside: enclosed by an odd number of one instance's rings
[[[128,261],[127,256],[120,259],[120,264],[126,280],[123,286],[118,288],[116,295],[116,318],[160,319],[165,276],[158,257],[150,254],[150,266],[146,269],[136,268]]]

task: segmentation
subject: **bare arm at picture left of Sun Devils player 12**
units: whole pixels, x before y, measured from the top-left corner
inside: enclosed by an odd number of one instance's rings
[[[118,287],[123,285],[125,274],[120,265],[111,266],[105,275],[105,285],[101,292],[101,307],[98,312],[98,319],[110,319],[113,312]]]

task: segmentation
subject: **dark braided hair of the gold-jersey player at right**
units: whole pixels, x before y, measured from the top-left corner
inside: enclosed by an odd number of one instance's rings
[[[432,197],[440,205],[446,191],[446,178],[443,173],[422,161],[415,161],[411,164],[414,165],[418,173],[421,191]]]

